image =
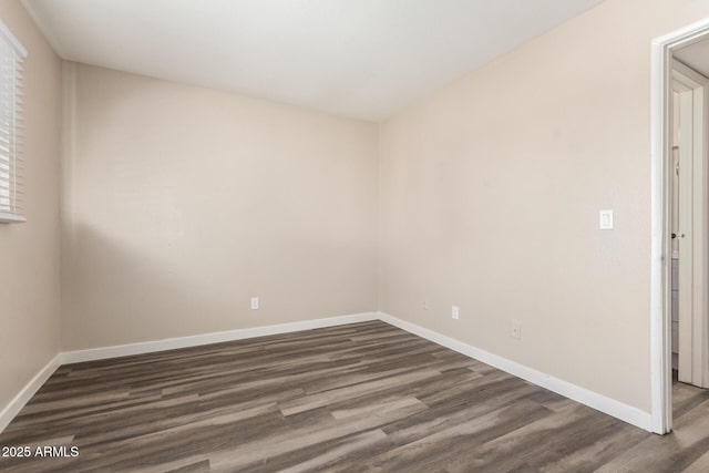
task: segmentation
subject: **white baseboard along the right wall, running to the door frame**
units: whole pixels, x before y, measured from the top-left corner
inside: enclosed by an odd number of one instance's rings
[[[554,378],[553,376],[525,367],[516,361],[507,360],[506,358],[493,354],[489,351],[438,333],[433,330],[425,329],[415,323],[407,322],[388,313],[379,312],[379,319],[408,332],[442,345],[445,348],[458,351],[459,353],[465,354],[466,357],[474,358],[483,363],[487,363],[502,371],[508,372],[510,374],[514,374],[517,378],[522,378],[536,385],[548,389],[549,391],[554,391],[565,398],[580,402],[582,404],[588,405],[597,411],[613,415],[614,418],[620,419],[629,424],[650,432],[653,431],[651,415],[649,412],[641,411],[595,391]]]

